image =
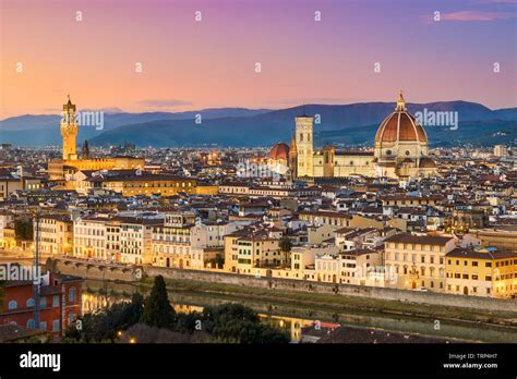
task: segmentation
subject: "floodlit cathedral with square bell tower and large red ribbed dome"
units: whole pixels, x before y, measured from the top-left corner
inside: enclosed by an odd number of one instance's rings
[[[436,175],[436,164],[428,156],[428,135],[406,108],[400,91],[397,106],[381,123],[373,151],[315,149],[314,118],[297,117],[296,132],[285,159],[292,179],[342,178],[353,174],[409,179]],[[272,149],[276,151],[280,145]],[[287,145],[281,146],[287,150]],[[270,155],[272,155],[270,152]]]

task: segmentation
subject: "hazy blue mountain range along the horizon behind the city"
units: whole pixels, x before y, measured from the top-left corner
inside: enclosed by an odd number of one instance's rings
[[[517,143],[517,108],[491,110],[480,103],[443,101],[408,103],[418,111],[456,111],[459,127],[428,126],[431,145],[494,145]],[[316,145],[372,145],[375,132],[393,102],[363,102],[346,106],[308,105],[281,110],[220,108],[190,112],[106,113],[104,130],[80,127],[77,143],[92,146],[267,146],[289,142],[296,115],[320,114],[314,125]],[[196,115],[201,114],[201,123]],[[0,142],[21,146],[61,144],[59,115],[21,115],[0,121]]]

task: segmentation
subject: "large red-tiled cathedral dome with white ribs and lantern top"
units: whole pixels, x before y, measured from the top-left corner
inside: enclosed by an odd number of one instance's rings
[[[428,143],[422,125],[408,112],[401,91],[395,111],[384,119],[375,135],[375,143],[395,142]]]

